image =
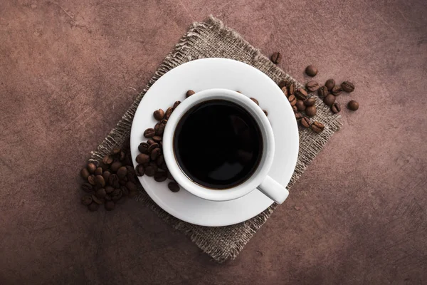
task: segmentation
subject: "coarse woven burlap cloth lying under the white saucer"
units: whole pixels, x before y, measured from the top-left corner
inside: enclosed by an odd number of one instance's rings
[[[297,83],[288,74],[278,68],[278,66],[271,63],[258,49],[245,41],[236,31],[224,26],[221,21],[210,16],[205,22],[196,22],[191,25],[189,31],[164,59],[146,88],[137,96],[119,123],[107,135],[107,138],[101,142],[97,150],[92,152],[90,160],[99,162],[113,147],[120,147],[125,141],[129,140],[135,110],[137,110],[137,106],[148,88],[157,79],[182,63],[198,58],[210,57],[232,58],[236,61],[242,61],[263,71],[263,73],[270,76],[276,83],[282,79],[287,79],[288,81],[294,81],[297,86],[301,86],[300,83]],[[316,107],[317,115],[313,120],[323,123],[325,130],[320,134],[316,134],[312,130],[300,129],[300,153],[295,172],[288,184],[288,189],[297,182],[307,165],[310,164],[317,153],[322,150],[323,146],[341,126],[338,116],[333,115],[330,109],[318,98]],[[264,212],[258,214],[258,216],[240,224],[228,227],[201,227],[183,222],[164,212],[163,209],[149,198],[142,187],[139,187],[139,195],[135,198],[137,202],[150,207],[165,222],[174,227],[174,229],[186,234],[192,242],[218,262],[236,258],[245,244],[253,237],[253,234],[260,229],[270,215],[273,214],[275,207],[277,207],[277,204],[273,204],[268,209],[265,209]]]

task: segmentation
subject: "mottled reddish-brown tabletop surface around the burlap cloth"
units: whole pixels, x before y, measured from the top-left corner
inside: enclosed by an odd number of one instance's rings
[[[214,14],[356,113],[235,261],[141,204],[89,213],[76,173],[192,21]],[[425,1],[1,1],[0,284],[422,284]],[[338,99],[347,102],[348,95]]]

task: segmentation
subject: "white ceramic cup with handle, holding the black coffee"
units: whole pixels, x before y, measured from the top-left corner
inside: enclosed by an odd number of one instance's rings
[[[182,116],[194,105],[198,105],[199,103],[209,100],[226,100],[240,105],[242,108],[247,110],[248,113],[253,116],[256,123],[258,123],[263,138],[262,157],[255,172],[253,172],[251,177],[246,181],[227,190],[212,190],[193,182],[184,174],[184,172],[182,172],[174,155],[174,132],[179,120],[181,120]],[[166,128],[164,129],[162,143],[164,160],[169,172],[176,182],[184,188],[184,190],[193,195],[212,201],[228,201],[242,197],[258,188],[258,190],[263,192],[264,195],[267,195],[267,197],[273,199],[273,201],[279,204],[282,204],[289,195],[289,192],[285,187],[268,176],[270,167],[273,164],[275,148],[273,129],[271,128],[270,122],[263,113],[263,110],[261,110],[253,100],[241,93],[228,89],[208,89],[186,98],[178,105],[178,107],[175,108],[174,112],[169,117]]]

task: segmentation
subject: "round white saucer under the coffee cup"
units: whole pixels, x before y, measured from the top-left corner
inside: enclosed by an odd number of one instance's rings
[[[189,89],[198,92],[210,88],[238,90],[258,99],[260,107],[268,111],[276,145],[275,160],[268,175],[283,186],[288,185],[297,162],[299,146],[297,122],[290,103],[282,90],[264,73],[246,63],[226,58],[204,58],[184,63],[164,74],[149,88],[132,123],[130,147],[134,166],[139,143],[147,141],[144,130],[153,128],[157,123],[153,118],[154,110],[166,110],[176,100],[184,100]],[[153,177],[143,176],[139,177],[139,181],[154,202],[166,212],[185,222],[207,227],[244,222],[273,203],[258,190],[239,199],[212,202],[183,189],[171,192],[167,187],[169,180],[159,183]]]

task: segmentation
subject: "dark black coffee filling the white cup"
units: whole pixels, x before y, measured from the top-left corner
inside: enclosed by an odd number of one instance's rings
[[[181,170],[216,190],[241,184],[255,172],[263,150],[258,123],[239,105],[210,100],[191,108],[174,135]]]

